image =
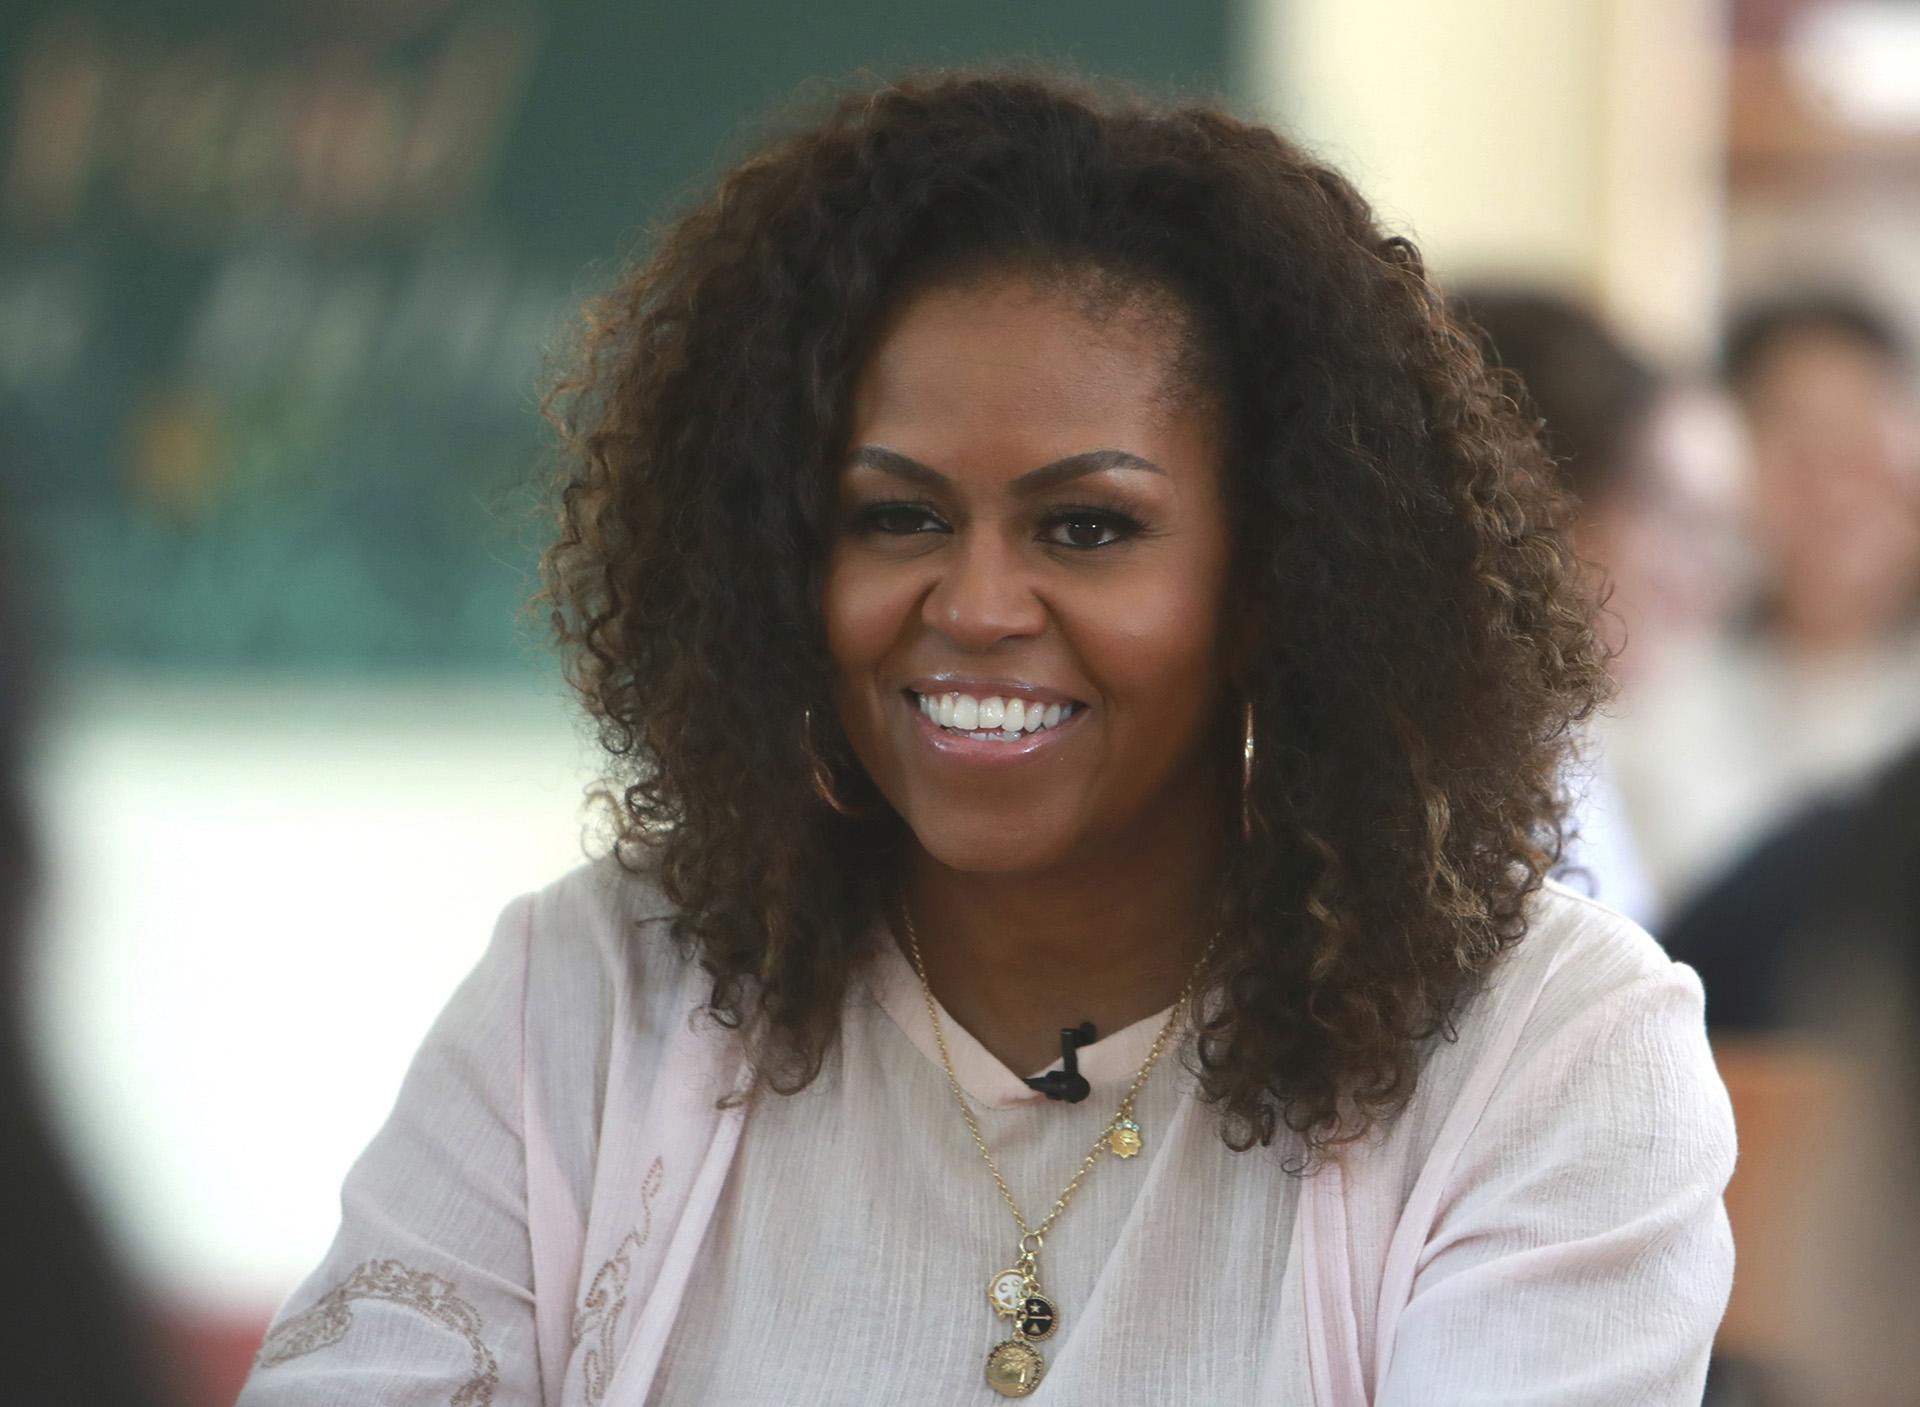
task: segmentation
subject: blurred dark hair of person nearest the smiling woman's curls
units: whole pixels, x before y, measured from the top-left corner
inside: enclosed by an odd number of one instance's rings
[[[1488,361],[1519,378],[1515,395],[1544,424],[1548,449],[1580,503],[1626,482],[1661,376],[1578,303],[1546,292],[1467,288],[1453,309],[1478,328]]]

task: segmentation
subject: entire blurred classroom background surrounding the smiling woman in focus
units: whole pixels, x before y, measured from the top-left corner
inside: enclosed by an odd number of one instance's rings
[[[1008,56],[1290,131],[1524,384],[1620,647],[1567,877],[1699,967],[1741,1121],[1709,1399],[1910,1399],[1920,4],[12,0],[8,1000],[175,1399],[591,835],[520,614],[570,311],[781,104]]]

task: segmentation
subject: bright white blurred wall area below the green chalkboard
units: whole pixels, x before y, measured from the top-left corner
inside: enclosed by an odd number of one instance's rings
[[[40,729],[40,1046],[132,1271],[211,1311],[319,1259],[501,906],[582,856],[532,683],[73,680]]]

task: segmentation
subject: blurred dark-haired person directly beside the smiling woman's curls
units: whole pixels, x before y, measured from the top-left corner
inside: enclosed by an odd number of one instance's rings
[[[1622,701],[1724,620],[1741,445],[1726,399],[1663,376],[1597,315],[1544,290],[1467,288],[1457,298],[1490,359],[1511,370],[1576,503],[1572,543],[1603,578],[1601,633]],[[1576,839],[1567,870],[1599,900],[1657,929],[1659,900],[1634,818],[1613,779],[1605,731],[1572,777]],[[1578,881],[1576,881],[1578,883]]]

